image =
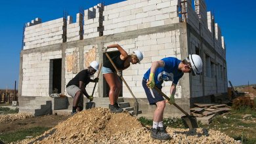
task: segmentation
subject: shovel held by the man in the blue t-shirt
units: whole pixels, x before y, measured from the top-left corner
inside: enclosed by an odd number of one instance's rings
[[[167,99],[168,101],[170,100],[170,98],[167,97],[165,94],[163,94],[163,92],[161,92],[161,90],[158,89],[156,86],[154,86],[154,89],[158,91],[158,93],[161,94],[165,99]],[[196,117],[194,117],[193,115],[188,115],[188,113],[186,113],[186,111],[181,109],[181,107],[179,107],[179,105],[177,105],[176,103],[173,103],[173,105],[177,107],[180,111],[182,111],[182,113],[185,114],[185,116],[181,117],[185,128],[189,128],[189,129],[198,128],[198,121],[196,120]]]

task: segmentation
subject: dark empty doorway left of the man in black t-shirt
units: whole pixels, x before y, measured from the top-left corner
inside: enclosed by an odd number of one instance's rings
[[[62,71],[62,59],[51,60],[52,75],[50,75],[50,93],[60,94],[61,93],[61,71]],[[51,79],[52,78],[52,79]]]

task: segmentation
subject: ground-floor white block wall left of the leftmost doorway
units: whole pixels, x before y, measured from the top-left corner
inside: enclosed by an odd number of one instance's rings
[[[52,91],[51,60],[62,58],[61,50],[23,54],[21,96],[49,96]]]

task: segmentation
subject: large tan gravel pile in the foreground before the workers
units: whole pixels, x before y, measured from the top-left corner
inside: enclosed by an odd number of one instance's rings
[[[167,128],[169,141],[154,140],[150,130],[129,113],[96,108],[75,114],[34,139],[19,143],[237,143],[218,131]]]

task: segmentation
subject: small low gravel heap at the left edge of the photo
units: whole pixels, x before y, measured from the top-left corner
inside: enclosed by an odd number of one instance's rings
[[[32,118],[33,116],[28,113],[15,113],[8,115],[0,115],[0,123],[12,121],[12,120],[24,120],[26,118]]]

